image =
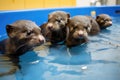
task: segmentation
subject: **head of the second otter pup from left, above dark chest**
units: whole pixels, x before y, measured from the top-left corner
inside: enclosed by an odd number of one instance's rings
[[[48,15],[47,29],[59,31],[66,27],[70,14],[64,11],[54,11]]]

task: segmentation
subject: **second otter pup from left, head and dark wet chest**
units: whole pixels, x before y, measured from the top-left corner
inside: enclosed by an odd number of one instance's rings
[[[48,22],[40,26],[43,35],[52,44],[58,44],[65,40],[69,17],[67,12],[54,11],[48,15]]]

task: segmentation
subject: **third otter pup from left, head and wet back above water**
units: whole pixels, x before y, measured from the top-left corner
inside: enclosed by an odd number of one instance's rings
[[[68,47],[80,45],[88,42],[88,35],[97,35],[100,32],[98,23],[91,16],[77,15],[69,19],[68,22],[68,37],[66,39],[66,45]],[[83,39],[76,39],[79,37],[77,34],[79,31],[83,31]]]

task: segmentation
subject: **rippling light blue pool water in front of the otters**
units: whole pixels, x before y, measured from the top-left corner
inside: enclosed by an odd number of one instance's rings
[[[87,44],[27,52],[20,56],[21,69],[0,80],[120,80],[120,17],[112,19],[113,25]]]

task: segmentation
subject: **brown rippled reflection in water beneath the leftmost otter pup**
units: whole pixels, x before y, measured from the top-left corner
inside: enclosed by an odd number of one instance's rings
[[[20,69],[19,65],[19,58],[18,57],[13,57],[13,56],[8,56],[8,55],[1,55],[0,56],[0,62],[4,68],[9,67],[10,69],[7,72],[0,72],[0,77],[5,76],[5,75],[11,75],[14,74],[18,69]],[[2,64],[3,63],[3,64]]]

